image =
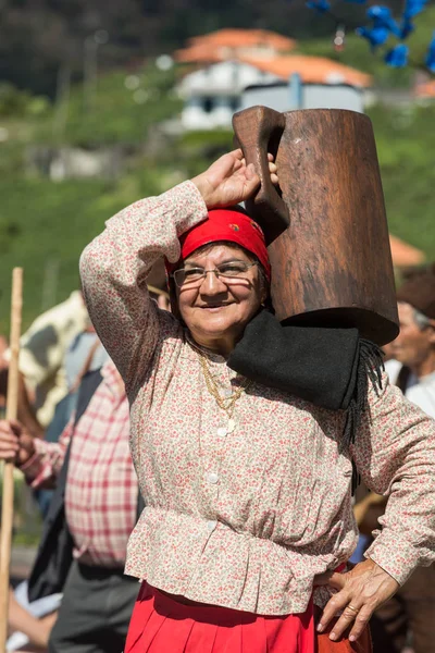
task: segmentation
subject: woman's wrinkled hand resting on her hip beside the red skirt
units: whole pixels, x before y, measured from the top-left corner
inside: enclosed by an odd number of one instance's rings
[[[325,574],[323,580],[318,577],[316,584],[338,590],[326,604],[318,626],[319,632],[323,632],[337,612],[343,611],[330,634],[334,641],[349,627],[349,640],[357,640],[373,612],[399,589],[399,583],[371,559],[359,563],[347,574]]]

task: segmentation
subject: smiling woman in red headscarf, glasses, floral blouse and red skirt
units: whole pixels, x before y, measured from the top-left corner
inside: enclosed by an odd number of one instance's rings
[[[259,226],[225,207],[259,183],[229,152],[121,211],[82,256],[92,322],[129,396],[147,506],[128,547],[126,572],[142,580],[128,653],[369,651],[372,612],[434,559],[431,420],[385,380],[344,451],[343,411],[227,365],[271,271]],[[173,313],[148,297],[159,257]],[[390,496],[368,559],[344,572],[358,535],[352,458]]]

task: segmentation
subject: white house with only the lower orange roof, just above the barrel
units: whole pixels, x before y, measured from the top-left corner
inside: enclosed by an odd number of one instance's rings
[[[287,65],[279,67],[273,59],[227,60],[187,74],[178,85],[185,100],[182,126],[231,128],[236,111],[256,104],[275,111],[318,108],[363,111],[369,75],[328,60],[321,60],[328,64],[321,71],[316,65],[319,58],[287,57],[279,58],[278,63],[283,64],[283,60]]]

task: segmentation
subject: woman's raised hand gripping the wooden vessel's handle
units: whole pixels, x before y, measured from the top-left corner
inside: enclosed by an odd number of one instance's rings
[[[273,184],[278,183],[273,156],[269,157],[269,171]],[[233,150],[214,161],[206,172],[191,180],[202,195],[208,209],[228,207],[245,201],[260,186],[260,177],[250,163],[246,164],[241,149]]]

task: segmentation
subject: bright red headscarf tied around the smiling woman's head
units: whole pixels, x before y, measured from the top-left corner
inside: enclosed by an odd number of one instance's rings
[[[268,248],[264,234],[260,225],[251,220],[249,215],[233,209],[212,209],[207,220],[183,234],[179,239],[182,247],[182,259],[186,259],[192,251],[217,241],[236,243],[250,251],[259,259],[264,268],[268,280],[271,278],[271,266],[269,262]],[[166,262],[167,271],[171,273],[176,264]]]

